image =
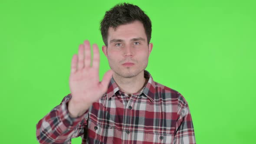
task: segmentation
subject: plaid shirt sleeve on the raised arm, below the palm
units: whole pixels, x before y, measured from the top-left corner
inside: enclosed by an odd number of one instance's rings
[[[36,138],[40,144],[71,144],[71,138],[84,133],[88,111],[78,118],[72,118],[67,108],[71,94],[36,124]]]

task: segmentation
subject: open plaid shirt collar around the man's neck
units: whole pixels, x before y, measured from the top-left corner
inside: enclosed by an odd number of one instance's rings
[[[143,93],[151,101],[154,101],[156,85],[155,85],[155,82],[154,82],[151,74],[147,70],[144,70],[144,78],[148,79],[148,82],[144,86],[144,88],[142,88],[141,92],[136,93],[136,95],[141,95]],[[118,85],[116,84],[115,80],[112,77],[111,81],[109,82],[109,85],[108,85],[108,90],[106,92],[107,99],[114,96],[115,93],[118,91],[120,91],[120,89],[118,88]]]

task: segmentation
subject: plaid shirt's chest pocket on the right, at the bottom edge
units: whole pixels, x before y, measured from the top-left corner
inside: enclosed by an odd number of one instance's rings
[[[161,134],[161,133],[145,133],[146,142],[158,143],[158,144],[172,144],[173,134]]]

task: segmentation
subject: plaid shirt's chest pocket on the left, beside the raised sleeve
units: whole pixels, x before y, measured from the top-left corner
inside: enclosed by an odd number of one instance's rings
[[[114,129],[112,127],[88,122],[87,140],[89,144],[113,144]]]

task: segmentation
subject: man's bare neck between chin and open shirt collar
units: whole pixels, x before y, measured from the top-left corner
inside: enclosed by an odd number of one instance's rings
[[[144,85],[147,83],[147,80],[144,78],[144,71],[131,78],[124,78],[114,73],[113,79],[115,80],[119,89],[122,92],[128,94],[129,96],[134,93],[140,92]]]

